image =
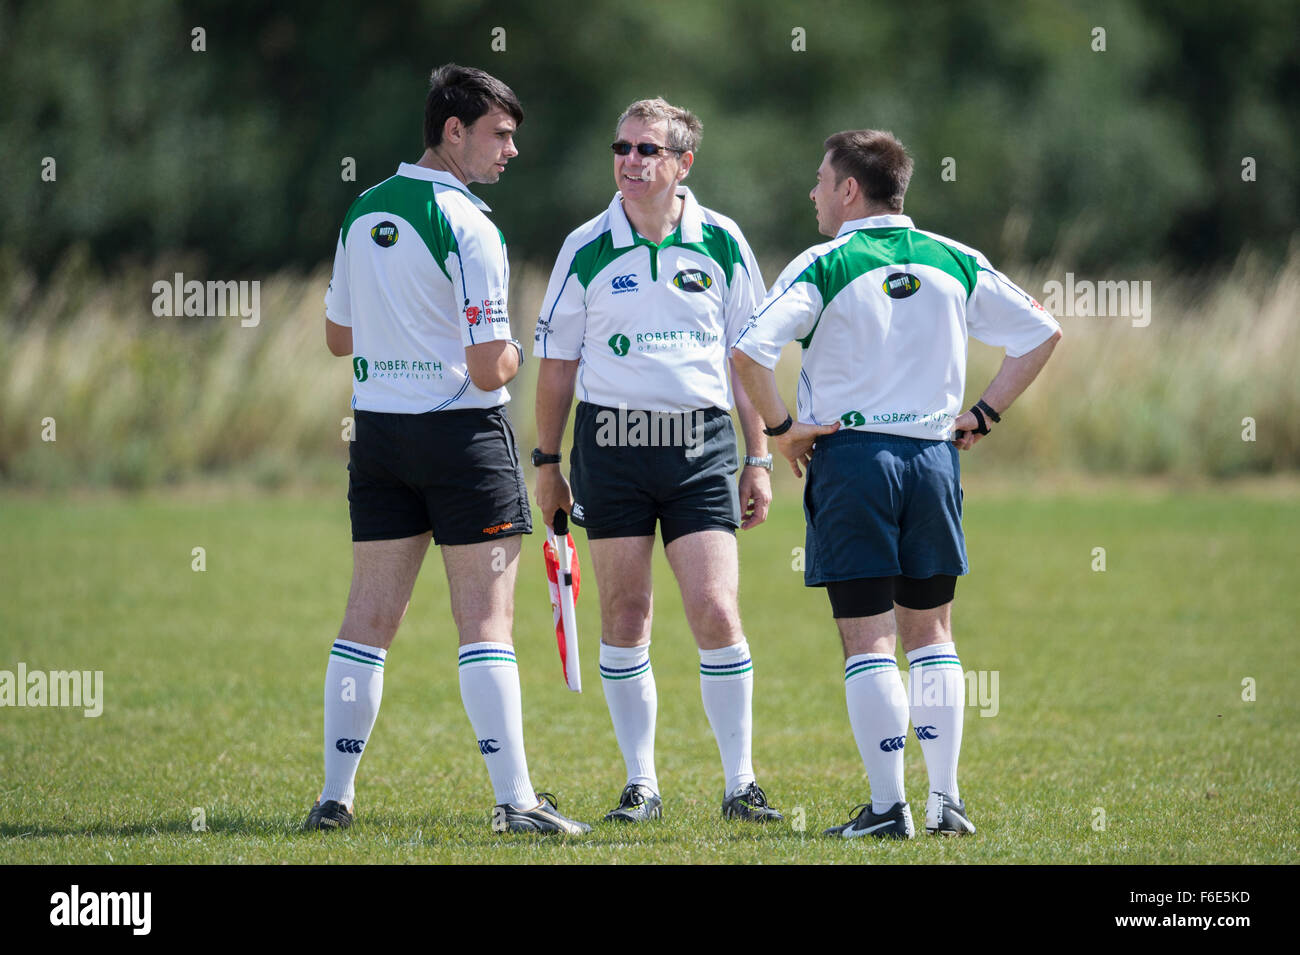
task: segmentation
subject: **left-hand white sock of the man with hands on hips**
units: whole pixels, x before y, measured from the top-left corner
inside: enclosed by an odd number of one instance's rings
[[[902,746],[907,738],[907,693],[890,654],[857,654],[844,664],[849,725],[871,783],[871,811],[907,802]]]

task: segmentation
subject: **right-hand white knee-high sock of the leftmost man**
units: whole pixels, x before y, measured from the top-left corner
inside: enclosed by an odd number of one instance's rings
[[[460,702],[478,738],[497,803],[537,806],[524,755],[524,712],[515,648],[508,643],[460,647]]]

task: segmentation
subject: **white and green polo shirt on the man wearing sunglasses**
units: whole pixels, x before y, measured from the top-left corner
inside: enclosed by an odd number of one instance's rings
[[[740,227],[680,187],[677,230],[636,234],[616,192],[566,239],[542,301],[533,355],[581,359],[584,401],[659,412],[729,411],[727,343],[762,299]]]

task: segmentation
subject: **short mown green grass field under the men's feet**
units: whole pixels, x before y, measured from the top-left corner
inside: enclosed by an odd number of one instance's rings
[[[998,678],[996,716],[972,706],[966,719],[962,790],[979,834],[889,845],[819,835],[866,782],[824,595],[792,570],[802,515],[788,494],[742,535],[741,611],[755,768],[805,830],[719,817],[697,657],[660,556],[666,817],[567,842],[489,830],[436,557],[389,656],[358,825],[296,832],[321,780],[321,680],[350,573],[342,495],[0,496],[0,669],[104,672],[98,719],[0,709],[0,863],[1295,861],[1296,495],[1024,490],[967,486],[974,572],[957,646],[967,670]],[[597,595],[589,581],[578,696],[560,680],[540,547],[525,543],[516,616],[532,776],[595,821],[623,785]],[[916,807],[915,739],[906,754]],[[207,832],[191,829],[199,808]]]

